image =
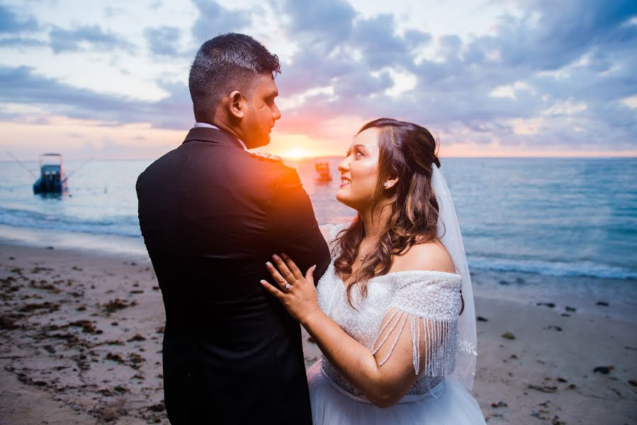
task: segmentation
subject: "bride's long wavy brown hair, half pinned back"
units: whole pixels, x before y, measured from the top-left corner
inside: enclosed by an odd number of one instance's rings
[[[339,248],[334,268],[340,276],[349,276],[347,300],[352,305],[351,291],[358,286],[361,296],[367,295],[367,281],[387,274],[392,256],[404,254],[414,244],[437,239],[439,206],[432,189],[432,164],[440,166],[436,155],[436,140],[424,127],[390,118],[373,120],[356,135],[370,128],[378,129],[378,183],[373,194],[373,208],[382,201],[391,208],[385,232],[378,239],[378,249],[364,258],[361,267],[352,274],[358,259],[358,249],[365,228],[357,215],[349,229],[336,239]],[[383,183],[398,176],[398,182],[386,190]],[[353,305],[352,305],[353,306]]]

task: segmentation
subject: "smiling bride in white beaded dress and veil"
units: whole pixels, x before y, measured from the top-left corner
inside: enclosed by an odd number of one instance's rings
[[[308,370],[314,424],[485,424],[473,293],[431,133],[388,118],[359,130],[337,200],[358,211],[322,232],[332,263],[316,288],[293,259],[261,284],[323,353]],[[275,267],[276,265],[276,267]],[[285,402],[285,400],[282,400]]]

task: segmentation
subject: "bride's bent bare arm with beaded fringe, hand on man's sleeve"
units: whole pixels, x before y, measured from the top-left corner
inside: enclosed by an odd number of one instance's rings
[[[400,309],[393,309],[383,318],[372,352],[320,310],[311,269],[303,278],[291,259],[286,258],[283,263],[277,256],[273,258],[286,278],[269,265],[281,290],[262,281],[264,288],[283,303],[330,363],[373,404],[392,406],[413,387],[419,372],[431,370],[432,356],[441,341],[447,341],[449,327],[440,327],[435,321],[410,317]],[[287,283],[291,285],[288,290],[285,289]]]

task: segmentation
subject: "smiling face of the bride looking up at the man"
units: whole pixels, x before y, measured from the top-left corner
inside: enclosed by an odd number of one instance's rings
[[[378,183],[378,129],[368,128],[356,136],[339,164],[341,187],[336,193],[339,202],[355,210],[365,210],[373,203]]]

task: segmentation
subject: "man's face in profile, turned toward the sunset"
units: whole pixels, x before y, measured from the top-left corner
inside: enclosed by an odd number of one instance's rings
[[[281,118],[274,98],[278,89],[271,74],[261,74],[255,83],[251,96],[246,99],[247,108],[242,120],[244,143],[250,149],[270,142],[270,132],[274,122]]]

